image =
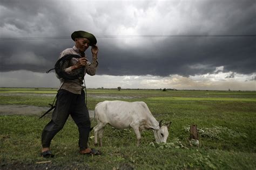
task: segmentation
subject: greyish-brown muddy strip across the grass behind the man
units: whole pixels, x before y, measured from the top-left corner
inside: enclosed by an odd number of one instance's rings
[[[24,104],[1,104],[0,115],[42,115],[49,107],[36,107]],[[94,110],[89,110],[91,118],[94,117]]]

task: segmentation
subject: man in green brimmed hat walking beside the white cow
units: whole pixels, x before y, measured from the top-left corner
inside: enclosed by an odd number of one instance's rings
[[[59,58],[68,54],[76,54],[81,58],[72,58],[69,61],[69,66],[64,69],[68,74],[76,73],[78,69],[83,69],[84,75],[95,75],[98,66],[97,55],[98,47],[96,46],[97,40],[93,34],[85,31],[75,31],[71,34],[71,38],[75,41],[75,46],[65,49],[60,53]],[[91,46],[92,62],[86,58],[85,51]],[[89,138],[91,122],[89,111],[85,104],[85,93],[83,80],[84,75],[75,80],[66,80],[63,77],[58,77],[60,80],[60,88],[57,93],[56,107],[52,113],[51,121],[45,126],[42,132],[42,152],[41,155],[45,158],[53,157],[50,151],[50,143],[52,138],[64,126],[69,115],[75,121],[79,131],[79,147],[80,154],[97,154],[97,150],[92,150],[87,147]]]

